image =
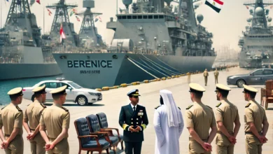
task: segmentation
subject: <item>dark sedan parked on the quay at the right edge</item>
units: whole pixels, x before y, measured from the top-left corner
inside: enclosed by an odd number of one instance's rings
[[[255,69],[251,73],[228,76],[228,85],[265,85],[266,80],[273,80],[273,69]]]

